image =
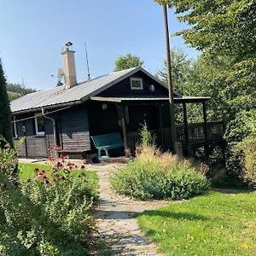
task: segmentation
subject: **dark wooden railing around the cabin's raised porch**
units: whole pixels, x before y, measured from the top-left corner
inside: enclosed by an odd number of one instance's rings
[[[223,121],[212,121],[205,123],[192,123],[186,125],[176,125],[177,141],[183,144],[183,148],[196,148],[209,143],[220,142],[224,135]],[[171,128],[151,130],[158,147],[165,150],[172,149]],[[131,153],[135,152],[137,143],[140,143],[138,131],[127,132],[127,145]]]

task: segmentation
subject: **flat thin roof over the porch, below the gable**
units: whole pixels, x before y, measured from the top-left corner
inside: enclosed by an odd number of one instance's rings
[[[197,96],[174,96],[175,103],[185,102],[206,102],[211,97],[197,97]],[[168,97],[102,97],[102,96],[91,96],[90,100],[96,102],[167,102]]]

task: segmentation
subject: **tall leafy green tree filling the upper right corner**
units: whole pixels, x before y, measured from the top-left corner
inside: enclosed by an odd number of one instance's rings
[[[219,70],[215,84],[226,103],[228,119],[256,106],[256,2],[254,0],[156,0],[176,9],[177,19],[188,29],[177,32],[186,44],[201,50],[204,61]],[[208,60],[207,60],[208,58]],[[221,66],[212,59],[222,60]],[[224,66],[224,61],[227,66]],[[216,81],[216,79],[213,79]],[[221,89],[221,90],[220,90]]]

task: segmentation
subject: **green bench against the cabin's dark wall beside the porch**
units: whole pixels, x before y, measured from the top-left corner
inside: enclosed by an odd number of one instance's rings
[[[91,139],[98,149],[98,157],[102,157],[102,150],[105,151],[106,157],[109,157],[108,149],[124,147],[123,138],[118,132],[91,136]]]

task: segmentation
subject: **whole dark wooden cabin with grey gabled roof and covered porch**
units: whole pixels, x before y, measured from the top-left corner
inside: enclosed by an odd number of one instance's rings
[[[181,96],[174,102],[183,106],[183,124],[176,125],[177,141],[184,152],[211,143],[221,143],[222,121],[207,122],[208,97]],[[187,104],[201,103],[204,122],[187,121]],[[119,132],[122,153],[134,154],[144,122],[156,136],[157,145],[172,150],[168,90],[142,67],[88,79],[67,88],[38,91],[11,102],[14,140],[26,137],[20,157],[45,158],[55,144],[67,154],[90,154],[96,148],[90,137]]]

